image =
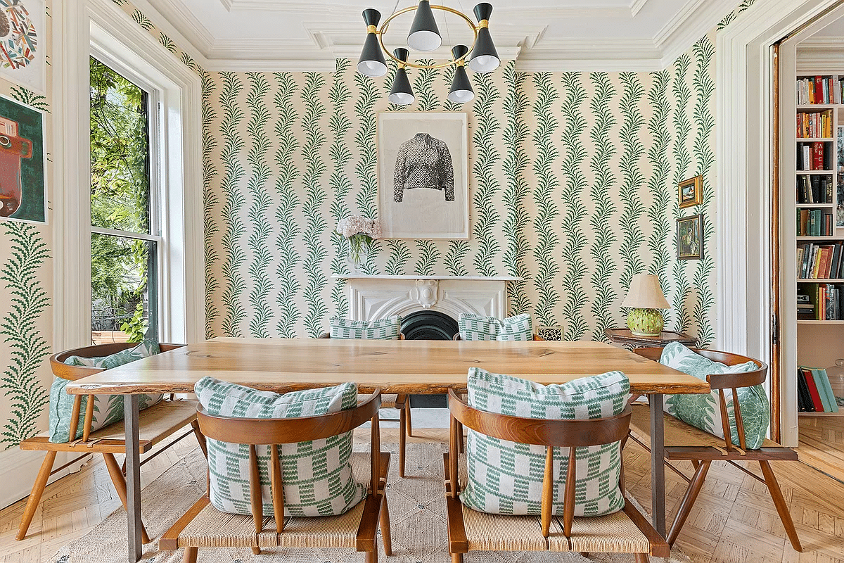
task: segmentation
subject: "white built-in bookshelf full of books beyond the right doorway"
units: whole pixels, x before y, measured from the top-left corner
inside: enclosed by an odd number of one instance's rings
[[[836,365],[844,355],[844,311],[839,304],[844,300],[844,161],[839,162],[844,140],[844,68],[841,70],[839,75],[798,74],[796,81],[797,359],[798,365],[816,368]],[[841,377],[830,374],[829,378],[833,391],[841,396]],[[844,417],[844,408],[837,413],[798,415]]]

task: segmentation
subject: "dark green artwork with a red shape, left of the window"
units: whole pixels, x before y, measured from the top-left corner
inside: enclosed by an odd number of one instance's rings
[[[46,222],[44,115],[0,96],[0,219]]]

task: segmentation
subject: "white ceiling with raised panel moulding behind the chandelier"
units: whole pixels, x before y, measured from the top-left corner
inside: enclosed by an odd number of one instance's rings
[[[330,70],[358,57],[360,12],[384,17],[414,0],[140,0],[156,25],[190,43],[211,70]],[[471,16],[475,0],[434,0]],[[656,70],[711,30],[738,0],[494,0],[490,32],[523,70]],[[398,8],[397,8],[398,7]],[[444,45],[471,43],[468,24],[435,10]],[[156,21],[160,17],[164,22]],[[411,15],[393,20],[403,45]],[[445,58],[447,51],[435,53]],[[413,55],[412,55],[413,56]],[[416,54],[419,57],[419,54]]]

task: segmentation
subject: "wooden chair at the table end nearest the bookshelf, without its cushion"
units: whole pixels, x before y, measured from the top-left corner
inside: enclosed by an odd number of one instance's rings
[[[662,348],[640,348],[633,350],[649,360],[659,361],[663,355]],[[775,441],[765,439],[761,447],[750,449],[747,445],[744,431],[744,414],[741,404],[738,402],[738,389],[753,387],[765,382],[767,365],[759,360],[747,356],[719,352],[710,349],[691,349],[695,354],[702,355],[712,361],[724,365],[740,365],[746,362],[753,362],[757,367],[753,371],[741,373],[722,373],[706,376],[706,381],[713,391],[717,391],[718,408],[721,413],[723,438],[714,436],[709,432],[698,429],[682,420],[676,419],[670,414],[664,414],[664,436],[665,436],[665,464],[674,473],[679,474],[688,484],[683,500],[671,529],[668,531],[668,544],[674,545],[677,536],[686,519],[689,517],[692,506],[701,492],[706,473],[713,461],[725,461],[734,467],[749,474],[754,479],[764,483],[771,493],[771,499],[776,506],[776,512],[782,520],[788,539],[794,549],[803,551],[798,538],[797,529],[794,528],[791,513],[788,512],[788,505],[782,497],[780,485],[771,469],[772,461],[797,461],[798,454],[790,447],[783,447]],[[725,392],[730,394],[733,403],[733,416],[730,416],[728,402]],[[630,438],[636,441],[641,447],[650,452],[647,444],[650,443],[650,413],[647,404],[634,403],[633,415],[630,422]],[[734,426],[738,433],[738,444],[733,443],[730,427]],[[637,437],[638,436],[638,437]],[[690,461],[695,468],[695,474],[687,477],[673,461]],[[749,469],[738,465],[738,462],[758,462],[762,476],[749,471]]]

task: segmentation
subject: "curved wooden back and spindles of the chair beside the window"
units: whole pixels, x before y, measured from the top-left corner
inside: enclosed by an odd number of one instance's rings
[[[110,344],[95,344],[93,346],[83,346],[82,348],[74,348],[53,354],[50,356],[50,369],[54,376],[67,379],[74,382],[86,376],[93,376],[100,371],[106,371],[103,367],[90,367],[88,365],[68,365],[65,364],[70,356],[80,356],[82,358],[101,358],[102,356],[116,354],[123,350],[131,349],[137,346],[137,342],[114,342]],[[168,350],[181,348],[185,344],[159,344],[162,352]],[[79,412],[82,410],[82,398],[87,397],[88,401],[85,406],[85,418],[82,426],[82,441],[88,441],[91,435],[91,424],[94,421],[94,395],[76,395],[73,398],[73,409],[70,414],[70,428],[68,429],[68,441],[76,439],[76,433],[79,428]]]

